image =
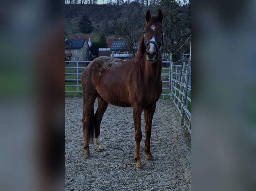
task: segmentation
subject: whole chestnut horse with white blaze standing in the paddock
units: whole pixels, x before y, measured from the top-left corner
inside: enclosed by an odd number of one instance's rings
[[[155,112],[156,101],[162,93],[161,43],[163,39],[163,13],[151,17],[148,10],[145,15],[146,26],[144,37],[139,41],[135,58],[122,61],[116,58],[101,56],[91,62],[83,71],[82,86],[84,91],[84,157],[90,156],[89,142],[93,141],[99,150],[104,150],[100,136],[100,124],[108,104],[132,107],[135,127],[136,168],[142,169],[140,161],[141,113],[145,116],[144,152],[148,160],[153,156],[150,152],[151,125]],[[94,102],[98,99],[98,108],[94,114]]]

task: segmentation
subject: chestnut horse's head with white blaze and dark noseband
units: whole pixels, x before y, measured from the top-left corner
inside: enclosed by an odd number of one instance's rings
[[[146,57],[148,61],[156,61],[163,42],[163,13],[159,9],[157,16],[151,17],[148,10],[145,20],[144,41]]]

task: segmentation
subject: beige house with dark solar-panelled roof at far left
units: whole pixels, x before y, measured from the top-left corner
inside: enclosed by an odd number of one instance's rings
[[[65,52],[70,61],[89,61],[91,51],[86,38],[65,39]]]

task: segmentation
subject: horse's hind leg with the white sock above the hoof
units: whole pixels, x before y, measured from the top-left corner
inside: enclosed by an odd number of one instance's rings
[[[105,113],[106,109],[108,107],[108,103],[102,99],[100,96],[98,96],[98,108],[94,115],[94,123],[95,123],[95,144],[99,146],[99,151],[105,150],[102,141],[101,141],[101,135],[100,135],[100,124],[103,117],[103,114]]]

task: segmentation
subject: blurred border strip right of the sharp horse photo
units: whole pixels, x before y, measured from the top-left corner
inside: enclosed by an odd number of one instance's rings
[[[256,190],[256,2],[191,7],[192,190]]]

